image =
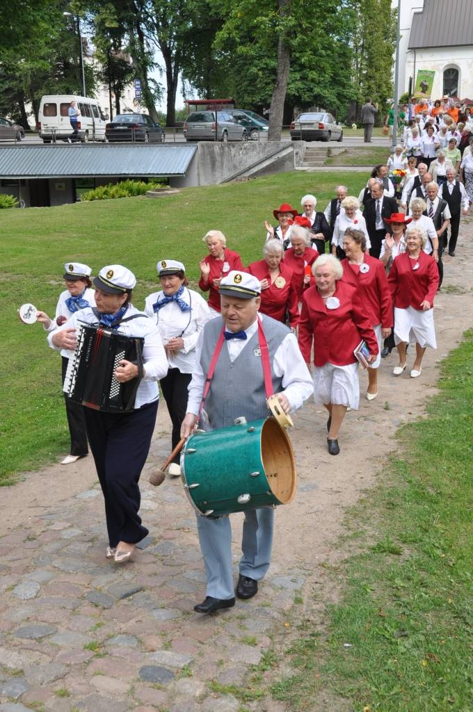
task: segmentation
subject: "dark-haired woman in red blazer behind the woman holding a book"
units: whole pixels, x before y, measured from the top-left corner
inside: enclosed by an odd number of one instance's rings
[[[378,395],[378,368],[381,362],[381,340],[393,329],[393,303],[386,279],[385,267],[375,257],[365,253],[366,238],[361,230],[350,228],[343,236],[342,281],[358,289],[363,306],[368,312],[370,324],[378,340],[378,356],[368,368],[368,391],[366,398],[374,400]]]

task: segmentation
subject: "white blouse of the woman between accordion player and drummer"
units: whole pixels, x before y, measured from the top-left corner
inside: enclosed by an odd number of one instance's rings
[[[153,292],[145,300],[145,314],[157,325],[162,343],[167,344],[174,337],[180,337],[184,346],[176,354],[167,353],[170,368],[178,368],[181,373],[192,373],[195,363],[195,345],[204,324],[212,319],[209,306],[202,296],[184,287],[182,300],[189,304],[190,311],[182,311],[177,302],[168,302],[159,311],[153,311],[152,305],[165,293]]]

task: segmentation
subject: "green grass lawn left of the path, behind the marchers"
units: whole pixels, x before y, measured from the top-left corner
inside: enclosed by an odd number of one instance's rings
[[[222,230],[247,264],[261,258],[263,222],[274,221],[281,203],[299,208],[303,194],[312,193],[323,210],[336,185],[347,184],[358,195],[365,182],[363,173],[291,172],[159,199],[1,211],[0,483],[68,451],[59,355],[48,348],[41,325],[23,325],[16,315],[25,302],[54,314],[63,263],[85,262],[94,274],[105,264],[125,264],[137,276],[133,301],[142,308],[156,288],[155,265],[162,258],[182,260],[195,286],[207,230]]]

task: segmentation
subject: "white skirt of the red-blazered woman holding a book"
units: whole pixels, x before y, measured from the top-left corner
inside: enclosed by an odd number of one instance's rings
[[[317,404],[345,405],[352,410],[360,406],[358,362],[348,366],[326,363],[313,369],[313,399]]]

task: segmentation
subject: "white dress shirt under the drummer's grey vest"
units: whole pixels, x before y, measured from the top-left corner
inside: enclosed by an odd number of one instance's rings
[[[264,314],[259,314],[264,322],[271,317]],[[245,330],[246,340],[229,339],[222,345],[222,349],[227,348],[230,361],[232,363],[237,358],[239,353],[248,345],[249,340],[258,329],[256,320]],[[196,416],[199,415],[200,402],[202,393],[204,392],[205,378],[207,374],[202,371],[200,365],[200,356],[202,354],[202,341],[204,332],[199,334],[197,346],[195,349],[196,363],[192,374],[192,381],[189,383],[189,400],[187,402],[187,412]],[[291,411],[301,407],[303,402],[313,394],[313,382],[311,374],[303,360],[301,350],[299,349],[296,337],[293,334],[288,334],[277,347],[274,353],[273,361],[274,374],[277,377],[282,377],[282,393],[287,397],[291,404]]]

